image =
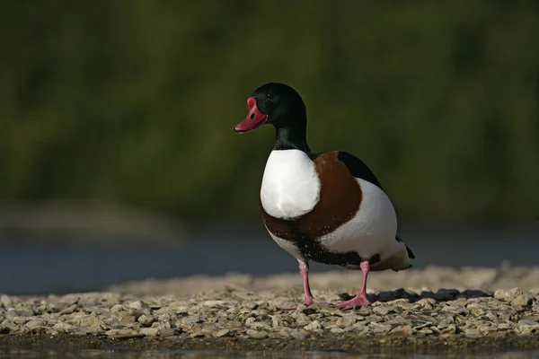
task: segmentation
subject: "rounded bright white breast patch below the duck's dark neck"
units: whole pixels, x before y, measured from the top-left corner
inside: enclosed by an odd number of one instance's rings
[[[292,219],[313,210],[320,198],[314,162],[299,150],[273,151],[261,187],[262,207],[276,218]]]

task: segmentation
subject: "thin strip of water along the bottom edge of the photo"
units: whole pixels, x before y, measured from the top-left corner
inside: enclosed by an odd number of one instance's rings
[[[223,352],[223,351],[140,351],[129,352],[122,350],[82,350],[77,352],[10,350],[0,351],[0,358],[17,359],[66,359],[66,358],[181,358],[181,359],[532,359],[539,357],[539,352],[507,352],[498,354],[465,355],[384,355],[384,354],[354,354],[343,352]]]

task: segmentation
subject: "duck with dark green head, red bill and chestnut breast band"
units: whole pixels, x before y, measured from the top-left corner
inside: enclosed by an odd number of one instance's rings
[[[408,269],[415,258],[397,236],[397,216],[384,188],[354,155],[311,151],[305,102],[291,86],[265,83],[248,97],[247,108],[235,133],[275,128],[261,181],[261,217],[271,238],[299,262],[304,304],[317,302],[309,285],[309,262],[314,261],[362,273],[358,294],[336,307],[369,305],[369,271]]]

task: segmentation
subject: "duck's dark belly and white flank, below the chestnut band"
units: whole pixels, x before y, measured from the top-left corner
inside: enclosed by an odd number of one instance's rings
[[[339,208],[325,208],[323,216],[316,217],[313,223],[266,215],[268,232],[282,249],[300,260],[349,267],[358,266],[360,258],[391,257],[399,250],[393,205],[382,189],[365,180],[358,183],[362,192],[358,212],[349,221],[331,228],[331,232],[326,231],[325,213],[333,216]]]

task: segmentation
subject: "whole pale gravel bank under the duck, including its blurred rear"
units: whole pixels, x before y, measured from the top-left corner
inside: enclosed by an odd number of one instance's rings
[[[341,349],[347,336],[376,338],[385,345],[402,343],[398,338],[447,345],[460,338],[488,342],[505,337],[517,343],[517,337],[539,337],[539,289],[533,287],[539,285],[537,279],[537,268],[431,267],[383,273],[369,282],[373,304],[353,311],[340,311],[334,304],[356,293],[357,272],[313,275],[314,295],[323,302],[310,307],[301,303],[298,275],[145,281],[105,293],[3,294],[0,337],[285,343],[333,337]],[[377,289],[381,287],[383,291]]]

